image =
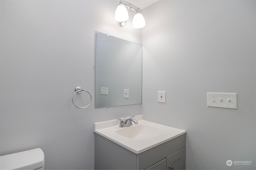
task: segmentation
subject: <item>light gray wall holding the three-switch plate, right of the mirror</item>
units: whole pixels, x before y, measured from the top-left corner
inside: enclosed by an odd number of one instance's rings
[[[160,0],[143,10],[142,113],[187,131],[186,169],[256,169],[255,9],[254,0]],[[207,92],[237,93],[238,109],[207,107]]]

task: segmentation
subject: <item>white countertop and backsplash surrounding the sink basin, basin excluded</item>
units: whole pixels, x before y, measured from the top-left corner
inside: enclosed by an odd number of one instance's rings
[[[128,137],[124,137],[122,135],[119,135],[116,133],[117,130],[123,129],[123,128],[129,128],[129,127],[119,127],[120,121],[114,119],[110,121],[103,121],[94,123],[94,132],[98,133],[99,135],[106,137],[110,141],[113,141],[114,143],[117,143],[118,145],[121,145],[122,147],[139,154],[141,152],[144,152],[148,149],[151,149],[153,147],[156,147],[157,145],[160,145],[166,141],[169,141],[171,139],[174,139],[175,137],[178,137],[180,135],[183,135],[186,133],[186,131],[177,129],[174,127],[169,127],[165,125],[161,125],[158,123],[153,123],[150,121],[143,120],[142,115],[137,115],[133,117],[133,119],[138,121],[137,125],[149,125],[152,127],[156,127],[162,130],[162,133],[160,135],[157,135],[156,137],[152,137],[150,139],[131,139]],[[137,126],[133,123],[132,126]],[[132,127],[130,126],[130,127]]]

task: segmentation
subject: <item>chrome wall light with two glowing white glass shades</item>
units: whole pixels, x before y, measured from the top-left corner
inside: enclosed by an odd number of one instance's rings
[[[128,10],[134,10],[136,12],[132,20],[132,26],[134,28],[142,28],[146,25],[145,19],[140,13],[140,8],[137,8],[132,4],[127,5],[122,0],[120,0],[119,5],[116,8],[115,20],[118,21],[121,27],[126,25],[126,21],[129,19]]]

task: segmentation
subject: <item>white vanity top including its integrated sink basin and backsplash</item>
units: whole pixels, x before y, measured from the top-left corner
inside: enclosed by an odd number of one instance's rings
[[[120,121],[116,119],[94,123],[94,132],[136,154],[186,133],[181,129],[143,120],[142,115],[133,119],[138,124],[133,123],[129,127],[119,127]]]

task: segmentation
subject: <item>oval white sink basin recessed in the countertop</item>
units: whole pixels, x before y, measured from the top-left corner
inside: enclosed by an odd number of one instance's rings
[[[138,124],[123,127],[122,129],[117,130],[116,133],[130,139],[150,139],[161,135],[164,131],[157,127]]]

